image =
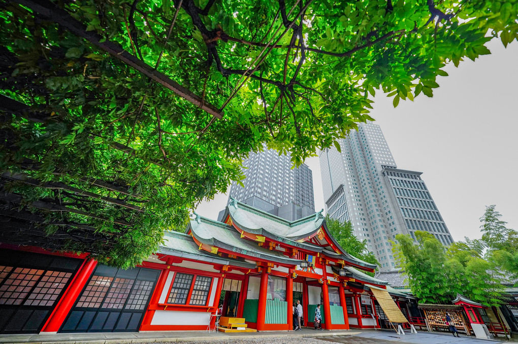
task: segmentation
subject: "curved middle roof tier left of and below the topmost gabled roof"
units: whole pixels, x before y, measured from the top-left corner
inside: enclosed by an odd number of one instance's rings
[[[258,246],[257,242],[243,240],[234,227],[202,216],[196,216],[190,221],[185,232],[190,231],[199,242],[234,253],[290,265],[297,265],[300,262],[300,259],[292,259],[281,252]]]

